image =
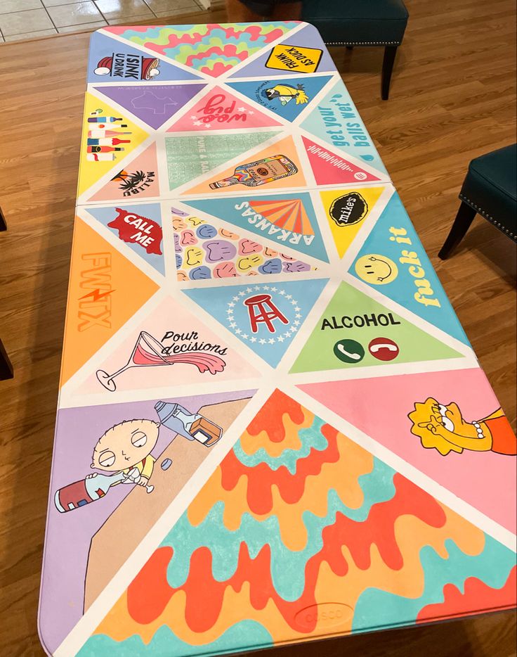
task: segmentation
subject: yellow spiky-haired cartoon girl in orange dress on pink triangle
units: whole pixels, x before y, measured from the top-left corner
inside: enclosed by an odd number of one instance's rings
[[[457,404],[440,404],[429,397],[424,403],[416,402],[408,417],[413,423],[411,433],[420,438],[422,447],[437,449],[443,456],[461,454],[464,449],[517,454],[516,436],[500,408],[481,420],[466,422]]]

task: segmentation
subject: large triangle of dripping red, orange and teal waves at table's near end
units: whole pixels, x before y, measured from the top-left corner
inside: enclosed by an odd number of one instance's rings
[[[450,587],[484,593],[451,617],[511,608],[515,573],[511,549],[275,390],[79,657],[220,655],[414,625],[435,620]]]

